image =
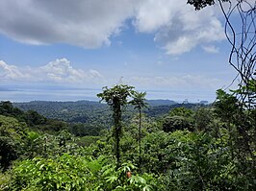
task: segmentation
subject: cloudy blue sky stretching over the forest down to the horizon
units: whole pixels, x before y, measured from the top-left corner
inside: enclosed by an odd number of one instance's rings
[[[223,16],[218,6],[195,12],[186,2],[1,0],[0,100],[22,100],[25,87],[34,89],[27,101],[42,98],[35,89],[52,94],[43,100],[83,99],[45,87],[122,82],[149,98],[212,101],[235,77]]]

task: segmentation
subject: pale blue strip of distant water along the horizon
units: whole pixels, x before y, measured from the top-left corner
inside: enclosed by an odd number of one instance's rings
[[[0,86],[0,100],[11,102],[29,102],[29,101],[78,101],[89,100],[99,101],[96,94],[102,90],[92,88],[72,88],[55,86]],[[146,91],[146,99],[168,99],[176,102],[188,100],[191,103],[206,100],[213,102],[215,92],[207,91],[168,91],[168,90],[140,90]]]

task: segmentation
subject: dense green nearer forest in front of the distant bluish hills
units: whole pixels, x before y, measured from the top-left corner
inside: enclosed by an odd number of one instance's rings
[[[120,107],[113,107],[119,95],[113,88],[99,94],[113,109],[99,107],[116,124],[97,136],[75,136],[73,124],[2,102],[0,190],[255,188],[255,108],[245,109],[234,95],[218,90],[212,106],[174,107],[153,117],[140,114],[144,99],[132,88],[125,90],[132,100],[120,97]],[[130,104],[137,106],[134,111],[123,112],[133,109]]]

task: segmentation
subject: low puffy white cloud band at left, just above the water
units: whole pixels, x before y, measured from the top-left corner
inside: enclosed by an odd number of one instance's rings
[[[89,71],[75,69],[69,60],[57,59],[38,68],[18,68],[0,60],[0,78],[6,81],[42,82],[57,84],[97,84],[102,82],[101,74],[93,69]]]

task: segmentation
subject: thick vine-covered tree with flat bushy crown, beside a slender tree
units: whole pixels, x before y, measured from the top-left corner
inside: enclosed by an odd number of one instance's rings
[[[132,96],[134,87],[127,84],[116,84],[112,88],[103,87],[103,92],[97,94],[101,98],[101,102],[105,101],[113,111],[113,119],[115,124],[115,157],[116,169],[120,165],[120,134],[121,134],[121,114],[122,108],[128,104],[128,98]]]

